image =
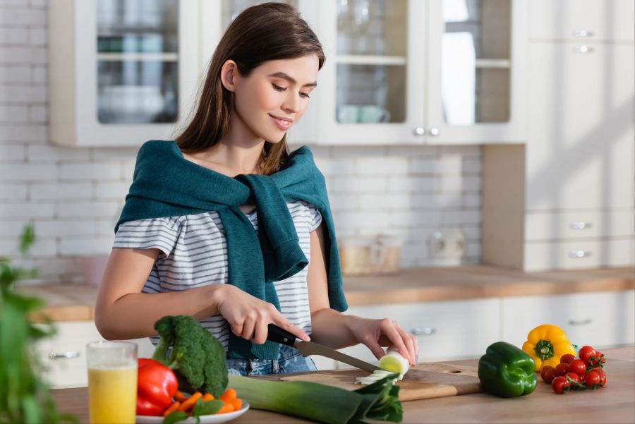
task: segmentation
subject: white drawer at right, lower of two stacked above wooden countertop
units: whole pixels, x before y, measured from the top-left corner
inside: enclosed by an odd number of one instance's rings
[[[634,244],[634,238],[525,243],[524,270],[628,267],[635,263]]]

